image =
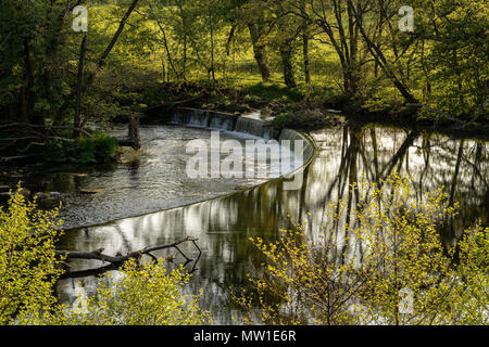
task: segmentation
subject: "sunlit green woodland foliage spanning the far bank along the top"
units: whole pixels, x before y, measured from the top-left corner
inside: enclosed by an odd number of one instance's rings
[[[412,1],[413,34],[399,33],[402,1],[360,4],[360,0],[140,1],[138,15],[130,15],[99,68],[127,3],[87,2],[85,80],[93,74],[96,78],[83,93],[82,117],[106,120],[140,112],[141,105],[168,102],[161,82],[200,80],[211,86],[220,80],[235,83],[250,101],[305,99],[314,106],[326,103],[336,104],[334,108],[363,106],[393,113],[404,101],[400,83],[417,101],[452,116],[472,119],[479,113],[488,89],[485,1]],[[362,21],[351,17],[350,5],[365,10],[360,13]],[[74,98],[67,97],[77,86],[82,35],[71,28],[68,7],[61,0],[0,3],[0,107],[5,119],[73,120]],[[381,51],[381,60],[367,48],[359,23]],[[262,82],[259,60],[271,75]],[[304,81],[306,70],[311,85]],[[284,81],[297,82],[298,88],[286,88]],[[346,97],[352,93],[353,100]],[[338,94],[343,100],[335,100]],[[486,110],[475,124],[487,123]],[[423,111],[421,117],[434,119],[440,114]]]

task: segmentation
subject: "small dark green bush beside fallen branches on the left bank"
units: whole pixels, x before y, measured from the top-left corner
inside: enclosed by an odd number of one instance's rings
[[[54,163],[104,163],[114,159],[117,147],[117,140],[106,134],[70,141],[51,140],[45,145],[43,157]]]

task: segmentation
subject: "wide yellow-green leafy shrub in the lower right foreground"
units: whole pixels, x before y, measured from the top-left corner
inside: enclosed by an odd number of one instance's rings
[[[487,324],[489,228],[446,249],[438,229],[456,204],[441,190],[417,202],[397,176],[380,183],[352,184],[358,205],[331,204],[331,227],[315,243],[302,226],[275,243],[251,239],[267,260],[250,277],[253,292],[235,293],[248,323]],[[412,311],[402,309],[403,291],[413,294]]]

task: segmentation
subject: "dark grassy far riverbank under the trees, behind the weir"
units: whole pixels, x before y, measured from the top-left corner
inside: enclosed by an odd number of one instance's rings
[[[303,131],[322,130],[334,127],[342,121],[358,124],[373,124],[402,129],[437,132],[456,139],[471,138],[489,140],[489,123],[485,115],[477,123],[466,119],[466,124],[459,124],[449,119],[441,119],[439,115],[419,114],[419,108],[398,105],[384,105],[380,110],[362,106],[361,100],[350,100],[344,95],[308,95],[301,88],[289,89],[276,83],[258,83],[252,87],[231,88],[206,83],[172,83],[161,85],[167,99],[160,105],[152,105],[141,110],[146,119],[158,119],[170,115],[175,107],[192,107],[211,112],[229,114],[261,114],[265,118],[274,119],[280,115],[313,114],[305,120],[297,117],[289,128]],[[365,102],[365,101],[363,101]],[[315,114],[315,115],[314,115]],[[486,116],[487,117],[487,116]],[[306,124],[308,127],[303,127]]]

